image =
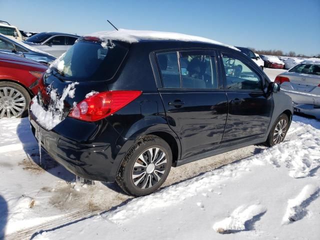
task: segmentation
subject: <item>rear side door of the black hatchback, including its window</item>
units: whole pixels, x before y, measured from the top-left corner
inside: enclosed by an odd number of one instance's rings
[[[181,142],[181,158],[219,147],[227,99],[219,84],[215,51],[156,53],[166,118]]]

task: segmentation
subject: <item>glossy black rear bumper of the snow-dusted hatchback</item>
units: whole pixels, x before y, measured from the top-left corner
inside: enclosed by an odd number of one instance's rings
[[[114,182],[118,169],[115,164],[119,164],[115,158],[124,141],[110,124],[103,122],[104,132],[101,132],[101,122],[67,117],[47,131],[36,122],[30,110],[29,120],[35,138],[39,140],[38,136],[41,136],[41,147],[67,170],[86,179]],[[105,130],[107,139],[104,138]]]

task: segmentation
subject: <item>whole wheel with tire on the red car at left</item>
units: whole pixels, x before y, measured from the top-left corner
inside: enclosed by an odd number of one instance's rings
[[[17,83],[0,82],[0,119],[4,117],[24,117],[31,101],[29,92]]]

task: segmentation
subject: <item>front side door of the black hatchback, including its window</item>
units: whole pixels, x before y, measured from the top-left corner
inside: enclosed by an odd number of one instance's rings
[[[220,57],[228,116],[222,144],[263,137],[273,110],[273,98],[264,93],[264,76],[245,56],[222,52]]]

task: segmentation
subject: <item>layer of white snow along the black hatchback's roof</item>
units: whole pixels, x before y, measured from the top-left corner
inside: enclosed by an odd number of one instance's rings
[[[113,31],[98,31],[85,36],[95,36],[101,40],[119,40],[126,41],[129,43],[139,42],[141,40],[179,40],[179,41],[196,41],[217,44],[227,46],[235,50],[239,50],[234,46],[221,43],[209,38],[201,36],[187,35],[177,32],[165,32],[165,31],[146,31],[146,30],[129,30],[129,29],[118,29]]]

